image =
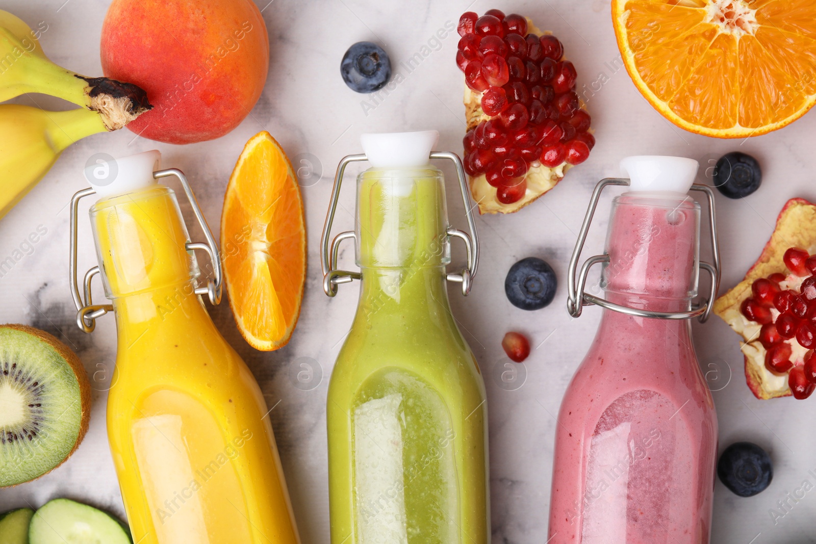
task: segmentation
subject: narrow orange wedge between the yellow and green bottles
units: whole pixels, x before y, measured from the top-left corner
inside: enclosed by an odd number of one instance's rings
[[[286,153],[264,130],[229,178],[221,212],[224,284],[238,329],[255,349],[289,342],[306,277],[304,206]]]

